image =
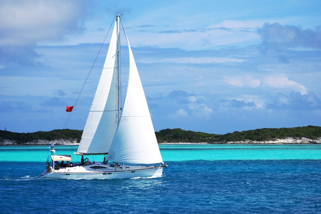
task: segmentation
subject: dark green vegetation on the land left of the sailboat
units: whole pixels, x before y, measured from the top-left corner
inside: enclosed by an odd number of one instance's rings
[[[0,130],[0,142],[4,140],[14,140],[18,144],[23,144],[33,140],[56,140],[56,139],[78,139],[80,141],[82,130],[55,129],[52,131],[37,131],[31,133],[17,133]]]

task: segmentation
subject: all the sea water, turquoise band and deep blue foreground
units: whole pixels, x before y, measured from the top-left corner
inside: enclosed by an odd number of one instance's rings
[[[321,213],[321,145],[159,147],[160,178],[57,180],[48,146],[1,146],[0,213]]]

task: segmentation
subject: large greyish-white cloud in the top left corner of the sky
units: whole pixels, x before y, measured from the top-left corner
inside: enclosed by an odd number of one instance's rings
[[[59,40],[64,34],[81,29],[84,8],[76,1],[1,1],[0,44]]]

